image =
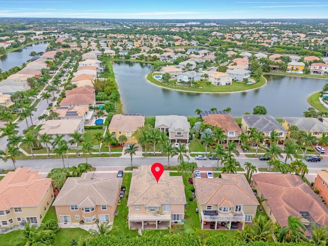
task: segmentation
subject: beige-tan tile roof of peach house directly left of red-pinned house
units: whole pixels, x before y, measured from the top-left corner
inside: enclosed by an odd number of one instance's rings
[[[84,173],[81,177],[69,177],[53,202],[53,206],[114,206],[121,184],[121,178],[110,176],[101,178],[93,173]]]

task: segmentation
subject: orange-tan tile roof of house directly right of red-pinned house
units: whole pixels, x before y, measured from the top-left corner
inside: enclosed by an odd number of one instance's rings
[[[243,174],[221,174],[221,178],[194,178],[194,187],[200,206],[205,204],[259,204]],[[232,206],[233,205],[233,206]]]

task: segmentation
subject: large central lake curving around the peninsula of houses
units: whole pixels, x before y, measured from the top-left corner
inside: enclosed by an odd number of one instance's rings
[[[146,116],[177,114],[194,116],[195,109],[218,110],[230,107],[231,114],[240,117],[263,105],[274,117],[302,116],[310,107],[306,97],[328,83],[325,79],[291,76],[266,76],[268,84],[262,88],[235,93],[190,93],[163,89],[147,81],[150,64],[119,61],[113,69],[123,101],[125,113],[144,113]]]

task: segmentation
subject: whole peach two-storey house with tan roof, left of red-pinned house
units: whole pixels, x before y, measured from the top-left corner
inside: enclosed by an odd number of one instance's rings
[[[113,222],[121,185],[122,178],[116,178],[116,174],[68,177],[52,205],[58,222]]]

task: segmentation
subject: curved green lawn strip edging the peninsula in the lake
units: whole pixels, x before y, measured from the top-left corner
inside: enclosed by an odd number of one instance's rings
[[[147,79],[154,83],[155,85],[162,86],[165,88],[183,90],[183,91],[194,91],[194,92],[232,92],[232,91],[245,91],[250,89],[255,89],[263,86],[265,84],[264,77],[260,78],[260,81],[255,84],[243,84],[242,82],[234,81],[230,86],[214,86],[212,84],[207,85],[207,81],[202,81],[202,88],[195,88],[195,87],[185,87],[179,84],[176,85],[166,85],[161,83],[160,81],[156,80],[152,76],[152,72],[147,75]]]

